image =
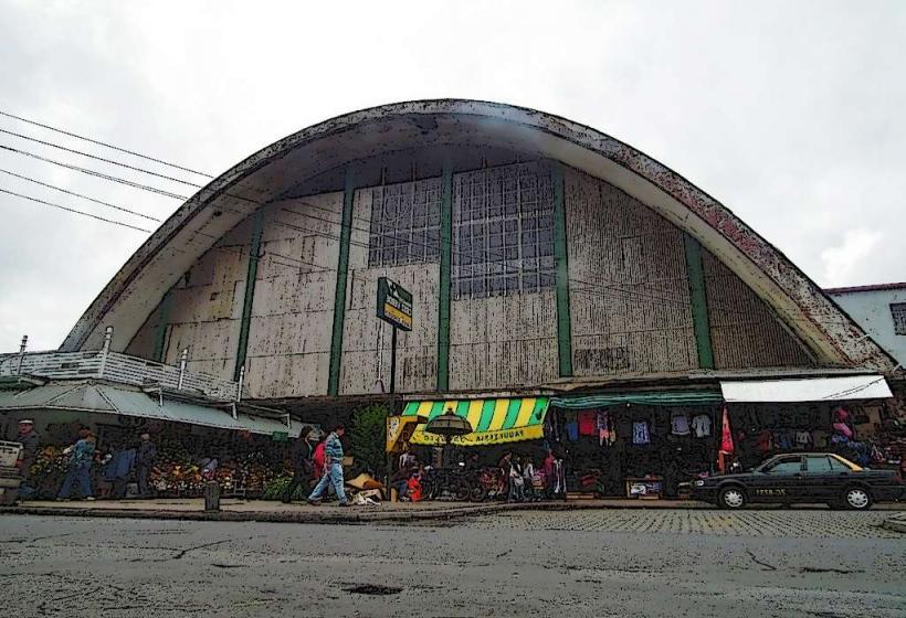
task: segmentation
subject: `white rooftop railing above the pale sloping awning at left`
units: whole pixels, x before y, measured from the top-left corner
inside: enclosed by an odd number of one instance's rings
[[[181,380],[180,380],[181,373]],[[104,379],[136,386],[193,391],[211,399],[238,401],[239,384],[204,373],[180,371],[119,352],[24,352],[0,355],[0,376],[33,375],[51,380]]]

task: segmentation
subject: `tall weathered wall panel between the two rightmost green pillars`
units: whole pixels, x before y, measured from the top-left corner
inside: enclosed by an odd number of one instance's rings
[[[680,228],[582,172],[565,193],[576,375],[697,367]]]

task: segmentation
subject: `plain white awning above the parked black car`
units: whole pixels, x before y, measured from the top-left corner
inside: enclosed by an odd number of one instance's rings
[[[893,397],[881,375],[721,382],[727,403],[840,402]]]

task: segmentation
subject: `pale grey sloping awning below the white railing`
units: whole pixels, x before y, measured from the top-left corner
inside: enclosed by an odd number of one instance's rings
[[[281,418],[266,418],[189,402],[164,401],[143,391],[93,382],[56,383],[29,391],[0,392],[0,413],[53,409],[92,414],[117,414],[155,420],[188,423],[219,429],[247,430],[253,434],[273,435],[286,433],[298,437],[302,428],[293,422],[292,427]]]

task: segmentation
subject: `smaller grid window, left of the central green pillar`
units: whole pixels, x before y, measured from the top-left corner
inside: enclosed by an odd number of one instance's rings
[[[368,266],[438,262],[441,245],[440,179],[376,187],[371,191]]]

